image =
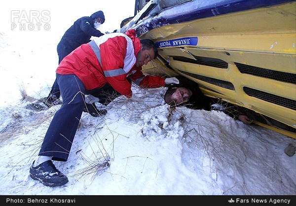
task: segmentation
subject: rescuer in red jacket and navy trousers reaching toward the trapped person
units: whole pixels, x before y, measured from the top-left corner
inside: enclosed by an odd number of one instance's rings
[[[149,39],[140,41],[135,30],[126,34],[102,35],[66,56],[56,70],[63,104],[49,125],[38,157],[30,168],[30,176],[46,186],[64,185],[69,181],[56,169],[52,160],[68,160],[85,107],[85,94],[110,86],[119,94],[131,98],[131,83],[127,77],[147,88],[179,83],[175,77],[145,76],[142,73],[142,66],[156,57],[154,42]]]

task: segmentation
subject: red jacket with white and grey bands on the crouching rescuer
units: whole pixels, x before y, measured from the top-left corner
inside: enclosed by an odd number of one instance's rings
[[[126,34],[105,34],[76,48],[62,60],[56,72],[75,74],[86,90],[101,88],[109,83],[117,92],[130,98],[132,91],[127,76],[146,88],[165,85],[165,78],[145,76],[142,67],[134,67],[141,48],[135,30],[129,30]]]

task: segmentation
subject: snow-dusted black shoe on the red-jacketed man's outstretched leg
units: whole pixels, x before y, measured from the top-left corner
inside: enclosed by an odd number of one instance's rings
[[[32,179],[40,181],[43,185],[55,187],[64,185],[69,181],[65,174],[56,169],[51,160],[43,162],[36,167],[34,167],[34,162],[30,168],[30,176]]]

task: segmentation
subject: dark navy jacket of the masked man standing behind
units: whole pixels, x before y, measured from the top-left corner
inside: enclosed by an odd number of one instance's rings
[[[94,18],[81,17],[65,32],[60,43],[64,44],[68,50],[74,50],[78,46],[88,43],[92,36],[104,35],[94,28]]]

